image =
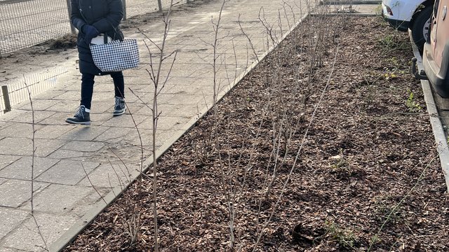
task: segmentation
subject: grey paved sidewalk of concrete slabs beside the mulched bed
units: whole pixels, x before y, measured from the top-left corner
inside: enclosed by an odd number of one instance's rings
[[[181,6],[171,17],[166,52],[177,50],[178,53],[168,83],[159,97],[161,117],[156,142],[159,153],[182,136],[212,104],[213,48],[208,43],[213,43],[214,37],[211,17],[217,21],[221,4],[222,1],[215,0],[201,5],[194,3],[194,8]],[[224,38],[219,41],[217,52],[220,55],[217,80],[221,83],[222,94],[229,90],[234,79],[239,80],[255,63],[248,40],[239,29],[239,14],[257,57],[267,53],[267,32],[258,18],[262,6],[264,19],[273,25],[279,39],[286,34],[288,24],[293,26],[294,22],[299,22],[306,9],[304,1],[300,0],[231,0],[226,3],[220,29],[220,37]],[[300,10],[300,6],[304,10]],[[374,12],[375,7],[369,9]],[[283,34],[277,23],[279,13]],[[145,23],[140,29],[154,41],[161,41],[161,20]],[[127,31],[125,35],[138,38],[140,43],[140,67],[124,72],[126,102],[133,117],[130,113],[112,116],[112,80],[102,76],[95,78],[92,125],[85,127],[64,122],[79,104],[80,74],[76,69],[75,51],[65,55],[67,61],[60,67],[65,67],[67,73],[55,78],[55,87],[32,100],[36,148],[34,211],[51,250],[57,249],[84,221],[89,221],[98,209],[104,207],[105,203],[91,183],[102,196],[112,200],[123,183],[128,183],[137,174],[135,171],[140,167],[142,153],[135,124],[144,145],[144,165],[149,165],[152,160],[149,158],[152,116],[142,104],[142,101],[150,105],[152,102],[153,86],[147,73],[149,52],[144,44],[145,37],[138,31]],[[156,52],[154,46],[150,49]],[[45,60],[43,55],[42,61]],[[163,78],[168,69],[168,64],[163,67]],[[29,102],[0,116],[0,251],[43,251],[44,247],[30,216],[32,118]]]

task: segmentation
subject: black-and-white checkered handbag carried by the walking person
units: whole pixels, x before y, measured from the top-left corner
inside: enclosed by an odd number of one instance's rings
[[[103,72],[123,71],[139,64],[138,41],[135,38],[90,45],[90,48],[95,66]]]

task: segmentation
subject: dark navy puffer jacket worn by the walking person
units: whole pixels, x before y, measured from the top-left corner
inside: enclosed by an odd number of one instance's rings
[[[119,25],[123,18],[121,0],[72,0],[72,25],[78,29],[79,71],[95,75],[107,74],[93,64],[91,49],[83,34],[83,25],[93,25],[102,34],[113,40],[123,40]]]

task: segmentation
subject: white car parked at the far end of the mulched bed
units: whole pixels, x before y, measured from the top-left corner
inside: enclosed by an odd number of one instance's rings
[[[399,31],[412,31],[412,38],[422,50],[429,33],[434,0],[383,0],[382,16]]]

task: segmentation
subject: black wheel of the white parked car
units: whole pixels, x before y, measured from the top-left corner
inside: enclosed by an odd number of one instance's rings
[[[420,50],[424,47],[424,43],[426,43],[427,36],[429,35],[432,10],[432,6],[427,6],[422,9],[415,17],[413,26],[410,27],[413,41]]]

